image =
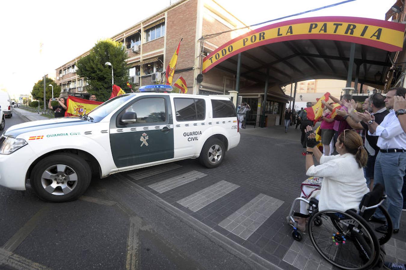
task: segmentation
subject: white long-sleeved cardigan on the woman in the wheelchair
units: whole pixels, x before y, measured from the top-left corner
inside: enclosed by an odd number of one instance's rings
[[[359,168],[355,156],[350,153],[322,155],[320,165],[312,165],[306,174],[324,179],[320,190],[320,211],[326,209],[358,210],[362,197],[369,192],[364,171]]]

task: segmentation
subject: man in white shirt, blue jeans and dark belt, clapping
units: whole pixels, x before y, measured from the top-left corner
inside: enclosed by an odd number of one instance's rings
[[[397,87],[388,91],[385,98],[385,106],[389,114],[382,123],[375,122],[374,115],[368,112],[356,113],[358,117],[368,124],[368,134],[379,136],[377,146],[380,148],[375,162],[374,184],[381,183],[385,187],[388,196],[385,206],[393,222],[393,233],[399,232],[400,216],[402,214],[403,177],[406,170],[406,134],[400,126],[399,119],[393,111],[394,96],[405,96],[406,88]],[[375,219],[384,219],[383,214],[377,210]],[[386,233],[387,225],[376,228],[377,232]]]

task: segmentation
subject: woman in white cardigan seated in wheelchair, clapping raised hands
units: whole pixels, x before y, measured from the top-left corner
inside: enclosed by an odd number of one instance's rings
[[[323,178],[320,191],[313,192],[311,196],[319,201],[318,210],[359,210],[363,196],[369,192],[363,171],[367,164],[367,151],[363,147],[361,136],[353,130],[344,130],[335,144],[339,155],[325,156],[317,147],[318,142],[311,126],[307,126],[306,132],[306,174]],[[313,156],[320,165],[314,165]],[[303,189],[301,196],[306,196]],[[307,208],[309,204],[301,201],[302,215],[309,214]],[[306,220],[307,217],[298,219],[299,230],[305,230]]]

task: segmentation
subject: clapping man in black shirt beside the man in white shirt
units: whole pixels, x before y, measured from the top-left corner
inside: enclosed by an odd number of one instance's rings
[[[367,130],[368,131],[368,124],[364,122],[360,122],[360,119],[355,115],[355,102],[351,100],[351,102],[344,102],[345,106],[348,108],[348,112],[337,110],[337,114],[341,115],[343,119],[347,121],[347,123],[353,128],[354,130]],[[375,93],[371,95],[369,98],[365,99],[363,104],[363,109],[374,115],[375,122],[379,125],[382,123],[384,117],[389,113],[387,108],[385,107],[385,97],[379,93]],[[371,136],[365,134],[365,149],[368,152],[368,162],[367,166],[364,168],[365,172],[365,179],[367,179],[367,186],[369,189],[372,190],[374,187],[374,167],[375,167],[375,160],[376,156],[379,152],[379,147],[376,145],[378,142],[377,136]]]

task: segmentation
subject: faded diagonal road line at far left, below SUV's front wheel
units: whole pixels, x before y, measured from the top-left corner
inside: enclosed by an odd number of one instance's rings
[[[50,204],[45,205],[35,215],[33,215],[24,226],[18,230],[4,245],[3,249],[7,251],[14,251],[19,244],[37,227],[39,221],[48,214]]]

